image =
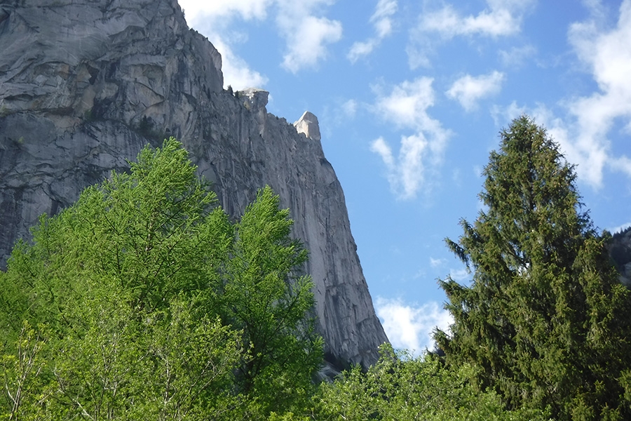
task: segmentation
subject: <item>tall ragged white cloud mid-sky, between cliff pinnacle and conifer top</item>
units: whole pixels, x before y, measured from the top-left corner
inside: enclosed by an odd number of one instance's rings
[[[424,185],[428,166],[437,166],[442,161],[449,138],[449,131],[427,113],[435,99],[432,81],[427,77],[404,81],[389,95],[384,95],[380,87],[375,88],[375,114],[398,128],[414,131],[412,135],[401,137],[396,159],[384,138],[374,140],[371,146],[384,160],[391,189],[400,199],[416,196]]]

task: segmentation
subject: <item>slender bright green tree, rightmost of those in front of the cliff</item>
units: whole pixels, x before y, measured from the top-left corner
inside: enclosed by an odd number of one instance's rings
[[[307,260],[298,241],[290,240],[289,210],[279,210],[269,187],[236,224],[237,239],[224,289],[226,322],[242,329],[251,354],[240,367],[240,388],[264,410],[296,409],[290,403],[311,395],[311,378],[322,359],[323,342],[313,334],[313,283],[296,268]],[[285,406],[288,405],[286,408]]]

